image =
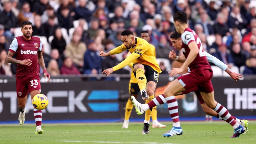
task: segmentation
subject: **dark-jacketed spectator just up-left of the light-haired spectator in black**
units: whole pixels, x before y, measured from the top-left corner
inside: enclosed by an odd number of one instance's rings
[[[58,26],[55,23],[55,16],[50,16],[48,21],[43,24],[44,28],[44,36],[48,39],[49,36],[52,36],[55,32],[55,29],[58,28]]]

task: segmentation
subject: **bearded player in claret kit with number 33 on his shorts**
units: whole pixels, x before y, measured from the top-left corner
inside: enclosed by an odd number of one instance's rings
[[[18,98],[18,109],[20,110],[19,123],[24,124],[26,113],[26,102],[28,91],[31,100],[36,94],[41,93],[41,84],[39,79],[39,66],[44,71],[45,78],[50,75],[47,73],[42,56],[42,42],[40,38],[32,36],[32,23],[23,21],[21,24],[22,36],[15,37],[10,45],[7,56],[7,62],[17,64],[16,71],[16,92]],[[15,58],[12,58],[15,53]],[[34,117],[36,121],[36,133],[43,133],[41,128],[42,110],[34,108]]]

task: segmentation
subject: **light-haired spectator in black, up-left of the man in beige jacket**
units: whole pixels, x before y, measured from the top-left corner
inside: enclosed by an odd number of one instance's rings
[[[64,59],[64,51],[66,48],[66,41],[62,36],[61,29],[57,28],[54,33],[54,38],[51,43],[52,49],[57,49],[62,59]],[[60,65],[61,67],[62,65]]]

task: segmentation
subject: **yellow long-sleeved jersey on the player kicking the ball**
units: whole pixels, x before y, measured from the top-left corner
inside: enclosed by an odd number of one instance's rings
[[[124,66],[133,63],[145,64],[153,68],[156,72],[161,73],[161,69],[156,61],[156,57],[151,45],[144,39],[139,37],[135,38],[135,45],[129,49],[131,54],[123,60],[121,63],[113,67],[113,70],[116,71],[118,69],[124,68]],[[124,52],[127,48],[122,44],[121,46],[116,47],[115,49],[110,51],[110,55],[118,54]]]

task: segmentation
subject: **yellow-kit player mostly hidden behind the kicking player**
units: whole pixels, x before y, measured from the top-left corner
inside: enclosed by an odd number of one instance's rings
[[[143,38],[145,39],[147,42],[150,40],[150,36],[149,36],[149,33],[148,31],[144,30],[144,31],[141,31],[140,33],[140,38]],[[150,44],[153,52],[154,52],[154,55],[156,57],[156,48],[154,45]],[[128,57],[131,53],[129,52],[127,54],[126,57]],[[130,67],[133,66],[133,63],[129,64]],[[138,85],[138,82],[137,82],[137,79],[135,78],[133,72],[131,72],[131,78],[130,78],[130,82],[129,82],[129,93],[130,93],[130,97],[131,96],[134,96],[135,98],[137,98],[137,95],[138,93],[140,92],[140,88],[139,88],[139,85]],[[125,107],[125,114],[124,114],[124,124],[122,126],[122,128],[128,128],[128,125],[129,125],[129,118],[131,116],[131,113],[132,113],[132,108],[133,108],[133,104],[130,100],[130,98],[128,99],[127,103],[126,103],[126,107]],[[147,117],[147,115],[145,115],[145,117]],[[150,118],[150,117],[149,117]],[[156,107],[154,107],[152,109],[152,113],[151,113],[151,118],[152,118],[152,121],[153,121],[153,125],[152,127],[153,128],[162,128],[162,127],[166,127],[164,124],[160,124],[158,121],[157,121],[157,111],[156,111]],[[148,119],[145,118],[145,119]]]

